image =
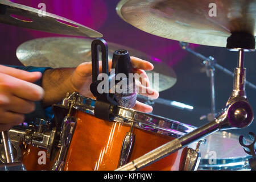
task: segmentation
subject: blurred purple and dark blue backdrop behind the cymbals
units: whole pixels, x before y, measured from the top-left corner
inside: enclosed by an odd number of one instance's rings
[[[38,8],[39,3],[45,3],[47,12],[101,32],[106,42],[137,49],[168,64],[176,72],[177,83],[172,88],[160,92],[160,98],[182,102],[193,106],[194,109],[179,110],[175,107],[155,104],[154,114],[193,126],[202,126],[208,122],[207,119],[200,120],[202,115],[210,113],[210,80],[204,71],[204,65],[197,57],[181,49],[179,42],[150,35],[124,22],[115,11],[118,0],[13,0],[13,2],[34,8]],[[6,24],[0,26],[1,64],[22,65],[16,58],[16,48],[28,40],[61,36]],[[196,44],[190,44],[190,47],[206,57],[214,57],[218,64],[232,72],[237,65],[237,52]],[[256,84],[255,56],[256,52],[245,54],[247,80],[253,84]],[[216,70],[215,84],[216,111],[220,111],[232,92],[233,78]],[[256,90],[247,87],[246,92],[255,111]],[[230,132],[247,135],[249,131],[255,131],[255,128],[256,123],[253,122],[246,129],[230,130]]]

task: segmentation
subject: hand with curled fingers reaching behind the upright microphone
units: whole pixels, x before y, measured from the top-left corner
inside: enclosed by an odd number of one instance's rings
[[[154,66],[148,61],[144,61],[137,57],[131,57],[131,63],[133,64],[133,73],[138,73],[140,75],[140,80],[136,81],[138,94],[143,96],[148,96],[152,99],[159,97],[159,93],[156,90],[153,90],[149,87],[150,82],[148,80],[147,74],[145,71],[151,71],[154,69]],[[112,60],[109,60],[109,69],[111,68]],[[100,61],[100,72],[101,72],[101,61]],[[90,84],[92,83],[92,63],[82,63],[79,67],[76,68],[70,77],[69,84],[72,85],[73,90],[79,92],[82,96],[93,97],[93,94],[90,92]],[[142,92],[143,90],[143,92]],[[144,92],[146,90],[146,92]],[[136,105],[133,107],[134,110],[142,111],[145,113],[150,113],[152,107],[146,104],[143,104],[139,101],[136,102]]]

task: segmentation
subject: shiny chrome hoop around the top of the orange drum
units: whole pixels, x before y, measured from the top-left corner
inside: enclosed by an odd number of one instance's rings
[[[96,100],[92,98],[78,95],[73,107],[83,113],[94,115],[95,103]],[[110,113],[113,115],[113,118],[111,119],[114,122],[126,123],[128,125],[131,124],[131,122],[136,122],[137,125],[135,127],[175,138],[183,136],[196,129],[194,126],[173,119],[142,113],[121,106],[112,106]]]

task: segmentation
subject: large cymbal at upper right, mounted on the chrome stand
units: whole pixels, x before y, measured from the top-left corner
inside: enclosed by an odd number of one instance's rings
[[[116,8],[123,20],[149,34],[217,47],[226,47],[231,32],[255,36],[255,9],[256,0],[122,0]]]

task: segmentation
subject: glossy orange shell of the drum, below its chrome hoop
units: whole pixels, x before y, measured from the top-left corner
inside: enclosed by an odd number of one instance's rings
[[[113,171],[117,169],[121,146],[130,126],[123,123],[102,121],[93,115],[77,111],[77,126],[69,147],[65,170]],[[173,140],[173,137],[135,128],[135,143],[131,159]],[[181,160],[179,150],[166,158],[143,168],[147,171],[177,171]]]

